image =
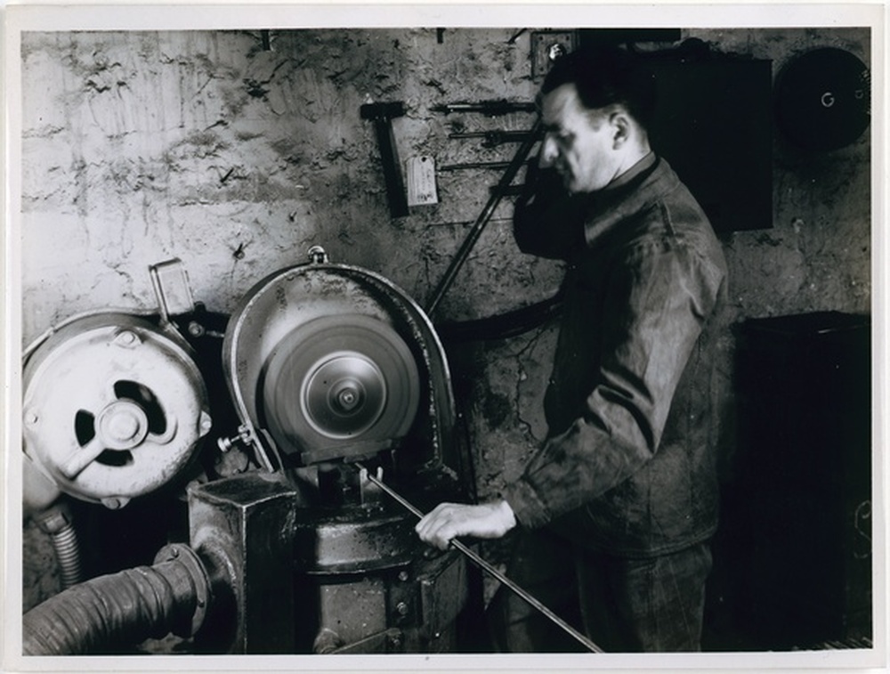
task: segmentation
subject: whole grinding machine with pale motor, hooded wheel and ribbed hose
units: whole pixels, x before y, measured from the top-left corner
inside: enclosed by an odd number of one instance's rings
[[[457,650],[473,574],[385,491],[423,508],[467,498],[425,313],[318,247],[250,289],[224,332],[178,261],[151,272],[159,316],[97,312],[26,350],[26,509],[51,520],[64,492],[124,512],[161,492],[187,529],[83,581],[77,521],[61,517],[70,587],[25,614],[24,653],[127,652],[171,632],[197,653]]]

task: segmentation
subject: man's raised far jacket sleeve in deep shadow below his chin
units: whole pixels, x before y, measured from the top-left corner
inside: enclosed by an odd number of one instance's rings
[[[570,197],[553,168],[530,166],[513,216],[516,245],[523,253],[567,260],[584,245],[580,199]]]

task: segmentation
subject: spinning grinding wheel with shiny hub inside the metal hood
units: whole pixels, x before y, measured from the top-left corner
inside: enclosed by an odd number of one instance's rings
[[[308,321],[275,346],[264,368],[268,430],[303,457],[408,433],[420,383],[408,345],[384,321],[337,314]]]

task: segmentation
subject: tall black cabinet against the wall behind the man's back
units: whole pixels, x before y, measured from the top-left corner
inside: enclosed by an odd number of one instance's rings
[[[740,621],[770,649],[870,638],[870,320],[749,320],[737,355]]]

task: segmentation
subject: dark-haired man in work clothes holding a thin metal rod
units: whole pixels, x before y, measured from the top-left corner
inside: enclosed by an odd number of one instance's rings
[[[612,652],[700,649],[716,529],[712,324],[725,262],[650,149],[652,88],[618,49],[571,53],[548,73],[541,170],[514,215],[523,252],[567,263],[548,436],[502,499],[441,504],[417,524],[440,548],[519,525],[507,574]],[[506,589],[490,617],[502,649],[571,647]]]

